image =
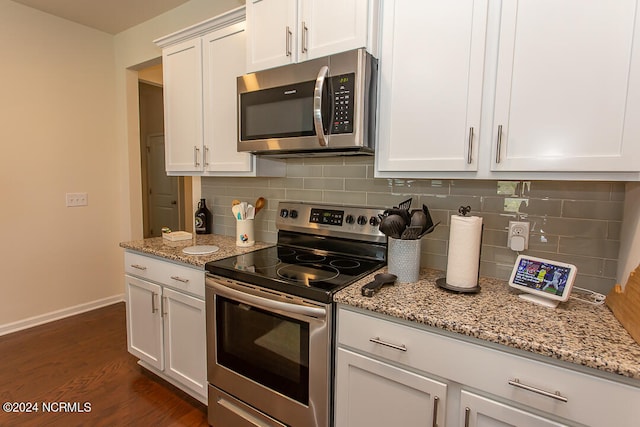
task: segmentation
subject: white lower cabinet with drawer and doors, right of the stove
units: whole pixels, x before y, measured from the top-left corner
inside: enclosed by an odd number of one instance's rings
[[[638,425],[640,387],[456,335],[339,305],[336,427]]]

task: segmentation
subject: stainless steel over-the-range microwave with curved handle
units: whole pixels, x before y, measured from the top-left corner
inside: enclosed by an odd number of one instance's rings
[[[373,154],[377,70],[357,49],[238,77],[238,151]]]

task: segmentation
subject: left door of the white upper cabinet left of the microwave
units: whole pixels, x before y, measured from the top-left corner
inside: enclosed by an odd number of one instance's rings
[[[202,51],[193,39],[162,51],[167,172],[202,171]]]

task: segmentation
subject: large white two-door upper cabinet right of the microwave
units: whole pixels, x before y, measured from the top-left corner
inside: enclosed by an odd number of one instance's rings
[[[640,0],[387,0],[377,177],[640,180]]]

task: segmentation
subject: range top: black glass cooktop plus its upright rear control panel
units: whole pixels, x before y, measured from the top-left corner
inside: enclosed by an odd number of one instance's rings
[[[383,209],[280,202],[278,244],[212,261],[222,278],[320,302],[386,264]]]

